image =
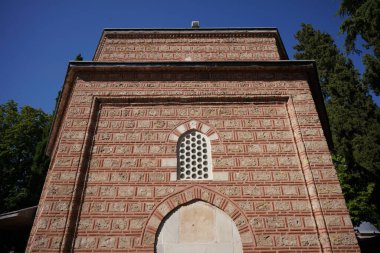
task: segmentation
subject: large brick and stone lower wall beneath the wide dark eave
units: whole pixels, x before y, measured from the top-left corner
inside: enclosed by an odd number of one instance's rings
[[[244,252],[357,252],[305,76],[191,75],[83,73],[76,80],[28,250],[153,252],[164,216],[203,199],[235,221]],[[170,135],[191,120],[217,134],[213,170],[227,172],[227,181],[170,180],[177,169],[163,162],[176,158]]]

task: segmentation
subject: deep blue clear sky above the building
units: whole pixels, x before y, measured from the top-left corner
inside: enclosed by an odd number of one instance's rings
[[[288,55],[302,22],[341,46],[338,0],[1,0],[0,103],[10,99],[51,113],[67,64],[91,60],[103,28],[277,27]],[[360,57],[353,60],[360,71]],[[380,101],[377,98],[378,101]]]

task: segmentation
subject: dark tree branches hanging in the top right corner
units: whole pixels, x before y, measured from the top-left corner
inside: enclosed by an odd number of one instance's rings
[[[356,40],[364,40],[363,47],[371,54],[363,56],[366,66],[363,81],[374,92],[380,94],[380,1],[379,0],[342,0],[339,14],[346,19],[340,29],[346,33],[345,46],[348,52],[360,53]]]

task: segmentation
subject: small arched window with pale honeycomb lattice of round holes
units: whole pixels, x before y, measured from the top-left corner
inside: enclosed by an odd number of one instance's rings
[[[198,131],[188,131],[177,142],[177,179],[212,179],[211,144],[209,138]]]

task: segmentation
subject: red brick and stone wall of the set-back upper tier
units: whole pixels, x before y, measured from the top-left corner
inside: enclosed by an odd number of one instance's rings
[[[252,61],[279,60],[275,34],[172,33],[170,36],[133,33],[107,34],[95,61]]]

